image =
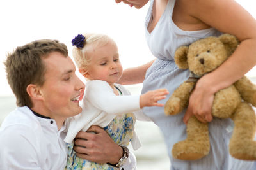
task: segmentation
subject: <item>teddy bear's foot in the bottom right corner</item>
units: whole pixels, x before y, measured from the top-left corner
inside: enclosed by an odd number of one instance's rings
[[[256,160],[256,142],[255,141],[245,141],[241,143],[236,143],[236,145],[229,145],[230,155],[236,159],[241,160]]]

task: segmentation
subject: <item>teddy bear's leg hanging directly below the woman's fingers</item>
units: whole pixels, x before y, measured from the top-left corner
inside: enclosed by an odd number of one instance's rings
[[[191,117],[187,125],[187,139],[173,145],[173,157],[181,160],[196,160],[207,155],[209,151],[208,124]]]

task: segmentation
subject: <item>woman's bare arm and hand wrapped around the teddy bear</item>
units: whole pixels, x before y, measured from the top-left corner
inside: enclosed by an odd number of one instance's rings
[[[256,21],[236,1],[189,2],[193,17],[221,32],[233,34],[241,42],[231,57],[218,69],[200,78],[189,99],[184,122],[188,122],[191,115],[195,115],[201,122],[211,122],[214,93],[232,85],[256,64]]]

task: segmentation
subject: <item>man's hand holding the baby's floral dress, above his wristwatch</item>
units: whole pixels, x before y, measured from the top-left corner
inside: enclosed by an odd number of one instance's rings
[[[74,150],[77,157],[99,164],[117,164],[123,155],[122,147],[117,145],[104,129],[94,125],[87,132],[78,132]]]

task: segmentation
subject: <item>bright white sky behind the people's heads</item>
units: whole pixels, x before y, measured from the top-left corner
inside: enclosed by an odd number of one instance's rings
[[[256,18],[253,1],[237,2]],[[6,53],[36,39],[58,39],[72,57],[74,36],[99,32],[116,41],[124,69],[154,59],[145,41],[147,8],[148,4],[137,10],[115,0],[1,0],[0,96],[13,95],[3,66]],[[256,76],[256,68],[246,75]]]

